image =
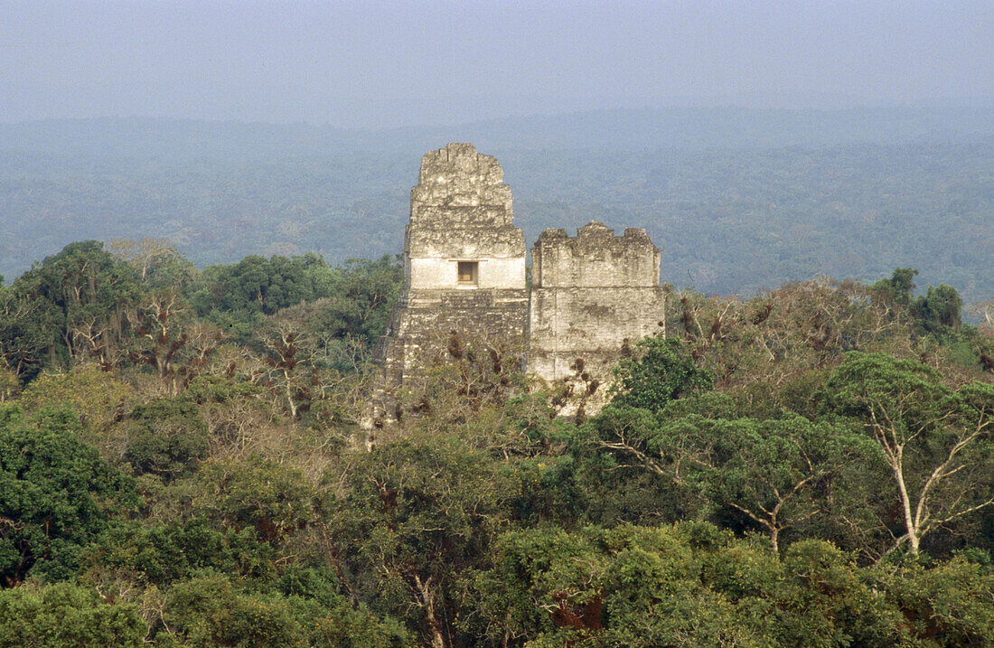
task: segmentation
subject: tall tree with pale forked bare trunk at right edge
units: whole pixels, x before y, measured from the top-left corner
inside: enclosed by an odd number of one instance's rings
[[[994,504],[994,386],[953,391],[934,369],[880,353],[852,352],[828,383],[830,403],[854,416],[894,476],[907,543]]]

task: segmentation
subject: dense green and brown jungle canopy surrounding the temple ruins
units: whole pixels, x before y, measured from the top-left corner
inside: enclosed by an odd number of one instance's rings
[[[592,416],[452,340],[372,438],[400,279],[144,240],[0,286],[0,645],[994,642],[994,331],[954,288],[671,290]]]

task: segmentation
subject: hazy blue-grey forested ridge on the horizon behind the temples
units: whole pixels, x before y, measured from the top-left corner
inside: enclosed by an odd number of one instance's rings
[[[456,127],[156,119],[0,125],[0,274],[83,239],[157,238],[197,265],[396,253],[424,151],[494,154],[534,241],[644,227],[662,277],[754,294],[914,266],[994,295],[994,110],[617,110]]]

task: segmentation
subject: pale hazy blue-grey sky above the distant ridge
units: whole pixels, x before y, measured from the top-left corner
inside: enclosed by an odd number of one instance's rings
[[[984,102],[994,0],[13,2],[0,120]]]

